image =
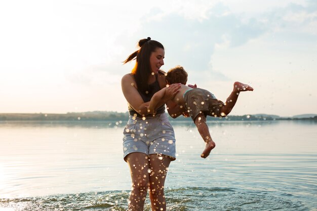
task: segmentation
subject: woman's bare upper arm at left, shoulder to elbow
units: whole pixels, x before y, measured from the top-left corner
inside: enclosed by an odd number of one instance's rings
[[[136,82],[131,74],[126,74],[122,77],[121,88],[123,95],[130,106],[140,115],[145,116],[147,114],[146,106],[149,105],[149,102],[144,103],[136,88]]]

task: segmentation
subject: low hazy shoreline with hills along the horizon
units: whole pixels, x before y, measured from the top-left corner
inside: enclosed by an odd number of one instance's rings
[[[0,121],[126,121],[128,112],[89,111],[71,112],[66,114],[47,113],[0,113]],[[317,121],[317,114],[303,114],[293,117],[280,117],[269,114],[246,114],[242,116],[228,115],[222,118],[209,117],[208,120],[217,121],[266,121],[266,120],[312,120]],[[173,121],[192,121],[191,118],[178,117]]]

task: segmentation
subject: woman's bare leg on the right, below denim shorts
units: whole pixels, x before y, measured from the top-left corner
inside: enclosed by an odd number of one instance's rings
[[[164,184],[170,163],[171,158],[167,155],[149,155],[149,195],[151,199],[152,211],[166,210]]]

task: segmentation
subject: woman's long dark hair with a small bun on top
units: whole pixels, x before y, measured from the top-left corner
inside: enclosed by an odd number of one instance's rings
[[[150,37],[141,39],[138,46],[140,49],[128,56],[123,63],[126,64],[136,59],[135,66],[132,69],[132,74],[134,75],[138,90],[145,93],[146,91],[149,91],[147,81],[151,74],[150,55],[157,48],[164,49],[164,47],[160,42],[151,40]]]

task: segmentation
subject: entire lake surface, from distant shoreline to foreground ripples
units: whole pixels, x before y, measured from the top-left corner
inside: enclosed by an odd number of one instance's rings
[[[0,211],[126,210],[126,122],[0,122]],[[317,122],[172,122],[168,210],[317,210]],[[150,210],[146,200],[145,210]]]

